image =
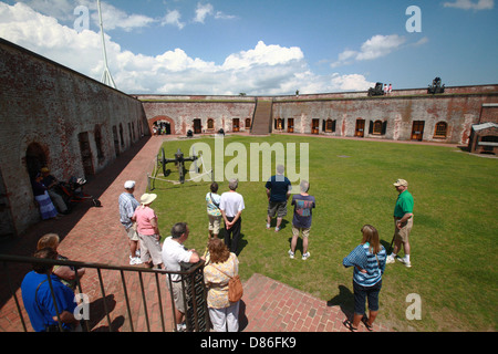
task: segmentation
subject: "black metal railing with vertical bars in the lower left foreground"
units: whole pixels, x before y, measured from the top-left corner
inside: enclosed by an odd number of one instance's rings
[[[126,303],[126,314],[128,317],[129,323],[129,331],[135,332],[134,321],[133,319],[135,316],[138,316],[139,309],[138,310],[132,310],[132,300],[138,300],[136,296],[136,288],[139,288],[141,292],[141,301],[142,301],[142,309],[143,309],[143,315],[145,317],[145,324],[146,324],[146,331],[151,332],[151,316],[149,316],[149,309],[152,308],[158,308],[158,315],[160,319],[160,329],[163,332],[166,332],[166,319],[167,313],[164,311],[164,301],[163,301],[163,291],[162,288],[166,288],[163,290],[167,290],[169,292],[170,298],[170,321],[173,322],[173,331],[177,331],[177,324],[176,323],[176,316],[175,316],[175,301],[173,296],[173,287],[172,287],[172,275],[173,274],[179,274],[181,277],[181,290],[184,294],[184,305],[185,305],[185,321],[186,321],[186,331],[196,331],[196,332],[208,332],[209,331],[209,315],[207,310],[207,301],[206,301],[206,288],[204,285],[204,261],[200,261],[195,264],[185,264],[186,267],[183,267],[183,271],[179,272],[172,272],[166,270],[159,270],[159,269],[149,269],[149,268],[141,268],[141,267],[116,267],[116,266],[110,266],[110,264],[101,264],[101,263],[89,263],[89,262],[76,262],[76,261],[69,261],[69,260],[48,260],[48,259],[39,259],[39,258],[32,258],[32,257],[19,257],[19,256],[4,256],[0,254],[0,262],[3,264],[2,267],[2,274],[7,277],[7,283],[9,285],[10,294],[9,299],[7,301],[13,301],[15,302],[17,312],[19,315],[19,321],[22,323],[22,329],[24,332],[28,332],[27,322],[23,316],[23,304],[22,299],[19,299],[20,296],[17,294],[19,291],[19,288],[14,285],[14,283],[20,283],[20,279],[18,275],[17,279],[12,279],[12,268],[9,268],[9,266],[12,267],[12,264],[51,264],[51,266],[68,266],[71,267],[74,270],[75,273],[75,282],[76,282],[76,291],[79,291],[81,294],[83,294],[82,289],[82,281],[79,279],[76,270],[79,268],[85,268],[85,274],[83,277],[89,277],[89,269],[93,269],[96,271],[96,280],[98,282],[98,287],[96,284],[90,284],[90,288],[97,288],[92,289],[93,292],[97,291],[100,289],[100,294],[102,295],[103,301],[103,308],[105,311],[105,317],[107,320],[108,324],[108,331],[112,332],[113,323],[111,321],[111,312],[112,310],[108,309],[108,305],[106,303],[106,288],[113,288],[115,294],[120,294],[120,291],[122,290],[123,300]],[[107,283],[104,282],[103,271],[108,271],[111,273],[118,273],[112,274],[111,281],[107,281]],[[134,277],[138,278],[139,287],[135,285],[133,289],[129,289],[129,285],[127,283],[131,283],[133,281],[136,281]],[[148,279],[148,287],[145,288],[144,277],[153,277],[154,280]],[[163,278],[164,277],[164,278]],[[53,295],[53,288],[52,282],[50,281],[50,277],[46,277],[49,279],[49,285],[50,291]],[[21,280],[22,281],[22,280]],[[163,285],[160,284],[163,282]],[[2,288],[4,288],[6,282],[2,281]],[[116,287],[116,283],[120,283],[121,287]],[[165,283],[167,285],[165,285]],[[15,289],[17,288],[17,289]],[[121,288],[121,289],[120,289]],[[131,292],[129,290],[133,290],[132,294],[135,294],[133,299],[131,299]],[[3,289],[6,291],[6,289]],[[157,296],[156,300],[154,298]],[[3,295],[6,298],[6,295]],[[148,298],[148,300],[147,300]],[[166,304],[167,305],[167,304]],[[25,310],[24,310],[25,311]],[[56,316],[60,320],[60,313],[59,309],[56,309],[55,304],[55,311]],[[1,313],[1,311],[0,311]],[[92,313],[90,313],[90,316]],[[155,320],[157,321],[157,315],[154,315]],[[1,319],[0,319],[1,320]],[[9,320],[12,322],[12,319]],[[81,321],[82,327],[91,332],[91,325],[89,319],[83,319]],[[61,321],[59,321],[59,329],[61,327]],[[138,330],[142,332],[142,330]]]

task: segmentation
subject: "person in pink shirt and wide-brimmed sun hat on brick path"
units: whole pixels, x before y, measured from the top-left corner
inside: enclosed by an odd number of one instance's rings
[[[147,267],[163,269],[163,256],[160,248],[160,232],[157,225],[157,216],[151,204],[156,200],[157,195],[144,194],[141,205],[135,209],[133,220],[136,221],[136,231],[141,240],[141,261]]]

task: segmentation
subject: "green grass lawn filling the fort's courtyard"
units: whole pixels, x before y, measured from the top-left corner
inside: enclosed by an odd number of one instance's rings
[[[393,183],[404,178],[415,199],[413,267],[407,269],[400,262],[386,266],[378,321],[397,331],[498,330],[498,159],[468,155],[450,146],[289,135],[228,136],[225,147],[243,144],[249,156],[250,143],[264,142],[284,146],[297,143],[298,150],[300,143],[309,144],[310,194],[317,198],[311,257],[301,260],[300,243],[295,259],[287,253],[292,208],[280,232],[267,230],[266,180],[241,181],[237,191],[246,204],[239,246],[242,279],[261,273],[351,312],[353,271],[343,268],[342,259],[360,243],[364,223],[377,228],[388,248],[397,197]],[[187,156],[195,143],[211,146],[215,159],[214,138],[166,142],[166,157],[173,158],[177,148]],[[227,154],[225,164],[234,159]],[[175,166],[167,166],[172,173],[166,178],[178,179]],[[249,176],[249,164],[247,168]],[[154,192],[159,197],[153,207],[162,235],[168,235],[175,222],[186,221],[190,227],[186,246],[204,251],[208,235],[204,198],[209,184],[155,183]],[[228,190],[226,180],[219,185],[219,192]],[[406,296],[411,293],[421,296],[422,320],[406,319],[412,304]]]

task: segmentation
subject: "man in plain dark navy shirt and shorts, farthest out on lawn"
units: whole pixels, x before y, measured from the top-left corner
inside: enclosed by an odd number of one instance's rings
[[[280,225],[283,217],[287,215],[287,200],[291,194],[291,183],[289,178],[283,176],[284,167],[277,166],[277,175],[271,176],[264,187],[267,188],[268,197],[268,218],[267,229],[270,228],[271,219],[277,215],[277,226],[274,231],[280,231]]]

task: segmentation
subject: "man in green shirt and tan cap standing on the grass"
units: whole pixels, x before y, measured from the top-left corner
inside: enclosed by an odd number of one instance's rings
[[[397,260],[404,263],[406,267],[412,267],[409,261],[409,231],[413,227],[413,196],[408,191],[408,183],[405,179],[398,179],[394,184],[397,192],[396,205],[394,206],[394,250],[387,256],[386,262],[394,263],[397,252],[403,249],[405,257]]]

